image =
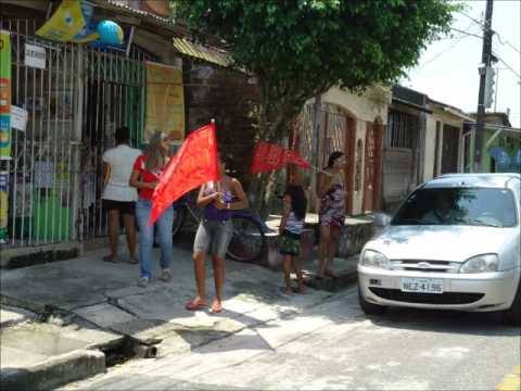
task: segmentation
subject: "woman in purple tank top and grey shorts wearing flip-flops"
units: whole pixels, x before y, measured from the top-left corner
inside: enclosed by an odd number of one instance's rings
[[[186,308],[191,311],[207,306],[204,262],[208,252],[212,254],[215,279],[215,299],[211,312],[220,313],[223,311],[225,256],[233,234],[231,211],[245,209],[249,204],[241,182],[226,175],[229,159],[223,159],[220,153],[218,159],[220,180],[203,185],[198,197],[198,206],[204,207],[204,211],[193,243],[198,295],[186,304]]]

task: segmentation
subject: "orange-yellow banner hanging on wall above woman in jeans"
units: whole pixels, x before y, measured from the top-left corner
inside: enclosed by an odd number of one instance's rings
[[[147,62],[147,121],[144,139],[161,130],[171,143],[185,140],[182,71]]]

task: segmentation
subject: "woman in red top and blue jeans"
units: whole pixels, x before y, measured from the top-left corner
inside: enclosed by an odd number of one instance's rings
[[[152,278],[152,248],[154,243],[154,226],[149,226],[152,212],[152,195],[166,165],[168,155],[167,147],[163,142],[162,134],[155,133],[150,143],[134,163],[130,186],[138,189],[139,199],[136,203],[136,218],[139,227],[139,265],[141,277],[140,287],[147,287]],[[171,244],[171,226],[174,224],[174,207],[165,210],[155,223],[161,248],[161,279],[169,281],[170,262],[174,256]]]

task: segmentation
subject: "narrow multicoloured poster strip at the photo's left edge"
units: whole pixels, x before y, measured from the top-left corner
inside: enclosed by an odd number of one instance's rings
[[[0,30],[0,160],[11,159],[11,35]]]

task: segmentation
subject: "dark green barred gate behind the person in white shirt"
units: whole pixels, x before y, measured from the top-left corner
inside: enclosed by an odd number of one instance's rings
[[[144,61],[155,60],[136,47],[129,58],[116,51],[96,50],[86,53],[85,59],[81,199],[76,222],[80,240],[106,234],[106,213],[101,202],[103,152],[114,147],[119,126],[128,126],[132,146],[140,147],[145,115]]]

